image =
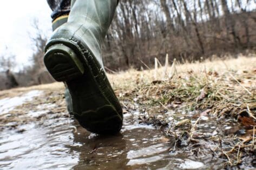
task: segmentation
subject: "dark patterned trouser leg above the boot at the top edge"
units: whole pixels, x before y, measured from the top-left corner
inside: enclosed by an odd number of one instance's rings
[[[71,0],[47,0],[47,2],[52,10],[51,18],[53,20],[57,17],[68,15],[70,12]]]

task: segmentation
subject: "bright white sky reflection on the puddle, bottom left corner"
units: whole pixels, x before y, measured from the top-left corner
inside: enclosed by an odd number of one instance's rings
[[[1,132],[4,137],[0,140],[1,169],[56,169],[62,166],[67,169],[78,161],[78,153],[70,153],[65,147],[73,145],[68,125],[45,128],[31,124],[21,128],[25,132]]]

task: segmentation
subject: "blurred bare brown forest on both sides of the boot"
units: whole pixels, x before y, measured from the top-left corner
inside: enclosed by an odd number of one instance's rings
[[[152,67],[155,57],[163,63],[167,53],[170,61],[176,58],[182,63],[254,51],[255,4],[255,0],[121,0],[103,46],[106,70]],[[5,66],[1,90],[14,87],[10,77],[16,86],[54,81],[43,64],[46,36],[37,24],[35,29],[34,65],[12,73],[8,65],[12,62],[0,63]]]

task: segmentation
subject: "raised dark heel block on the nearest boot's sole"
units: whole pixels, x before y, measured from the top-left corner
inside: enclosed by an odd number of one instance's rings
[[[75,52],[63,44],[49,47],[44,56],[44,64],[56,81],[68,81],[84,74],[84,67]]]

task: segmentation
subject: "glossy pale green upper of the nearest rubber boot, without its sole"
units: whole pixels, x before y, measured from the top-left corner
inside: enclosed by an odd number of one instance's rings
[[[102,44],[113,19],[117,3],[117,0],[71,1],[68,22],[54,31],[45,50],[55,43],[62,42],[65,44],[64,42],[70,42],[70,39],[74,39],[73,45],[82,43],[90,53],[93,53],[97,62],[104,69]]]

